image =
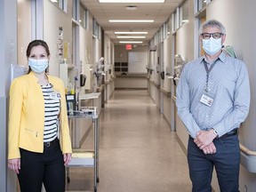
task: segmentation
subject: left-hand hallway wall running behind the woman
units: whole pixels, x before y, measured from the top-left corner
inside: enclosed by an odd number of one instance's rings
[[[39,6],[33,7],[32,2],[36,4],[41,4]],[[31,4],[30,4],[31,3]],[[7,119],[8,119],[8,95],[10,89],[10,77],[11,77],[11,64],[17,64],[17,57],[19,51],[19,64],[27,63],[26,58],[26,49],[28,43],[34,38],[44,39],[50,47],[51,52],[51,65],[50,65],[50,75],[60,76],[60,58],[58,55],[58,44],[60,38],[60,29],[63,28],[63,43],[68,44],[68,64],[72,63],[72,8],[74,1],[67,1],[67,12],[63,12],[59,7],[54,5],[50,0],[37,0],[37,1],[17,1],[17,0],[2,0],[0,1],[0,85],[2,89],[0,90],[0,107],[1,110],[1,121],[0,121],[0,130],[1,134],[1,157],[0,157],[0,191],[13,192],[16,191],[16,181],[17,176],[12,171],[7,169],[6,159],[7,159]],[[38,5],[37,4],[37,5]],[[19,6],[19,12],[18,12]],[[37,8],[36,12],[32,12],[33,8]],[[27,10],[27,11],[26,11]],[[24,13],[28,15],[24,15]],[[35,16],[36,13],[36,16]],[[19,14],[19,15],[18,15]],[[28,19],[30,18],[30,19]],[[36,23],[38,26],[34,26],[33,23]],[[19,23],[19,25],[18,25]],[[34,23],[34,24],[35,24]],[[80,25],[79,22],[76,25]],[[18,31],[19,26],[19,31]],[[36,31],[37,28],[37,31]],[[95,52],[96,57],[101,55],[101,42],[100,40],[96,42],[95,50],[92,50],[92,14],[90,15],[89,20],[90,31],[86,31],[87,35],[84,35],[86,41],[80,42],[80,44],[85,44],[88,46],[89,54]],[[82,30],[82,29],[81,29]],[[85,30],[85,29],[84,29]],[[36,34],[38,33],[38,34]],[[104,33],[104,32],[103,32]],[[79,34],[79,33],[78,33]],[[105,57],[111,59],[109,62],[113,62],[114,57],[114,46],[111,40],[106,36],[105,39],[108,39],[108,44],[103,48],[103,50],[108,51],[105,53]],[[89,42],[89,43],[88,43]],[[17,48],[18,47],[18,48]],[[96,50],[97,49],[97,50]],[[112,54],[112,55],[110,55]],[[88,54],[87,54],[88,55]],[[98,56],[97,56],[98,55]],[[80,59],[80,58],[79,58]],[[95,61],[94,60],[94,61]],[[93,60],[92,60],[93,61]],[[93,63],[96,64],[96,63]],[[113,64],[109,65],[110,68]],[[78,66],[80,68],[80,66]],[[113,68],[113,67],[112,67]],[[113,76],[111,76],[112,78]],[[110,79],[110,74],[109,74]],[[114,92],[114,83],[106,84],[106,89],[108,89],[108,94],[111,95]],[[101,106],[101,100],[96,100],[94,104],[96,106]],[[88,127],[91,124],[88,124]],[[3,138],[2,138],[3,137]],[[83,137],[81,137],[83,139]]]

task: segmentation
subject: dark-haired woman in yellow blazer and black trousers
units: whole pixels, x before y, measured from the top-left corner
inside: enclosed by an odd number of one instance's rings
[[[48,76],[50,51],[42,40],[28,44],[28,74],[10,90],[8,167],[17,173],[21,192],[65,191],[65,165],[71,141],[65,89]],[[60,122],[60,126],[59,126]]]

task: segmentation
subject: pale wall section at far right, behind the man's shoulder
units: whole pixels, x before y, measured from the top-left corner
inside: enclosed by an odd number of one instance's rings
[[[234,46],[236,56],[244,60],[250,76],[251,83],[251,108],[249,116],[240,128],[239,139],[246,148],[256,150],[256,88],[255,88],[255,60],[256,45],[255,34],[256,27],[253,24],[255,18],[256,1],[254,0],[214,0],[207,7],[207,20],[220,20],[227,30],[226,45]],[[218,12],[216,12],[218,10]],[[256,175],[240,167],[240,190],[244,191],[244,185],[247,191],[256,190]]]

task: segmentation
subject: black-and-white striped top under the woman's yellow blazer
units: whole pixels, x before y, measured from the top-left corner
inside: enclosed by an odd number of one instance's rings
[[[41,85],[44,94],[44,142],[55,140],[58,137],[60,99],[54,97],[56,92],[52,84]]]

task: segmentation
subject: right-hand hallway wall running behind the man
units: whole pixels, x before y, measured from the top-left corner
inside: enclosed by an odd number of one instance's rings
[[[252,44],[252,38],[254,39],[254,35],[256,33],[256,27],[252,24],[252,18],[255,17],[255,10],[256,2],[254,0],[247,0],[246,2],[240,0],[213,0],[210,4],[208,4],[202,12],[199,14],[194,13],[195,3],[197,1],[188,0],[188,18],[189,22],[178,28],[174,33],[172,33],[172,40],[169,41],[168,44],[172,47],[174,45],[174,50],[171,49],[171,52],[164,52],[164,57],[166,54],[174,52],[175,54],[180,54],[182,59],[185,62],[193,60],[198,55],[197,49],[197,40],[198,40],[198,28],[197,22],[198,17],[202,14],[206,14],[206,20],[216,19],[220,20],[224,24],[227,29],[227,39],[225,45],[232,45],[236,51],[236,56],[238,59],[244,60],[250,76],[251,82],[251,92],[252,92],[252,100],[251,100],[251,108],[249,116],[247,117],[244,124],[242,124],[240,129],[240,141],[241,143],[251,150],[256,149],[256,121],[255,121],[255,114],[256,114],[256,88],[255,88],[255,60],[256,56],[253,52],[256,52],[255,44]],[[216,12],[218,10],[218,12]],[[165,39],[166,40],[166,39]],[[164,41],[165,41],[164,40]],[[158,47],[158,45],[157,45]],[[165,51],[165,50],[164,50]],[[152,53],[150,57],[150,63],[154,66],[156,65],[156,58],[159,53]],[[156,58],[155,58],[156,57]],[[168,58],[168,62],[170,66],[172,66],[172,60],[174,55],[171,54],[171,57]],[[150,75],[149,82],[149,89],[148,92],[153,100],[157,100],[156,95],[160,92],[156,89],[155,84],[152,82],[157,82],[157,74],[153,72]],[[156,83],[157,84],[157,83]],[[172,83],[171,83],[172,84]],[[172,85],[171,85],[171,88]],[[174,91],[174,90],[173,90]],[[175,92],[172,91],[172,94],[175,95]],[[172,110],[175,108],[172,105],[169,105],[169,100],[166,101],[164,98],[164,108],[167,110]],[[172,107],[171,107],[172,106]],[[166,114],[168,116],[168,114]],[[164,116],[165,112],[164,112]],[[172,114],[171,114],[172,116]],[[176,133],[178,136],[178,140],[180,140],[181,146],[183,146],[185,153],[187,150],[187,143],[188,143],[188,132],[181,122],[179,116],[176,116],[175,122],[171,122],[171,124],[176,124]],[[248,172],[244,169],[244,166],[241,165],[240,171],[240,190],[244,191],[244,186],[247,187],[247,191],[254,191],[256,188],[256,176],[255,174]],[[219,191],[218,181],[216,178],[216,174],[213,176],[212,180],[212,188],[215,191]]]

